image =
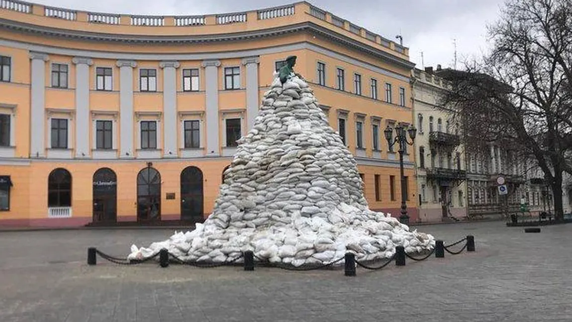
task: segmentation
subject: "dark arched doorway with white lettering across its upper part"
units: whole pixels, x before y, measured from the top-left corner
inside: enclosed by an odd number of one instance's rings
[[[117,221],[117,175],[109,168],[93,174],[93,222]]]

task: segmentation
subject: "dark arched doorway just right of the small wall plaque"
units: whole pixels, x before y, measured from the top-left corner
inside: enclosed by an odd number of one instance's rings
[[[181,172],[181,220],[202,221],[202,172],[188,166]]]

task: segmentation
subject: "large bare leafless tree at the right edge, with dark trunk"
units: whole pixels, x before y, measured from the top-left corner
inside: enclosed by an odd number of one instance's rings
[[[457,110],[469,150],[494,142],[532,158],[563,218],[562,175],[572,174],[572,0],[507,0],[488,32],[490,53],[439,73],[451,86],[442,103]]]

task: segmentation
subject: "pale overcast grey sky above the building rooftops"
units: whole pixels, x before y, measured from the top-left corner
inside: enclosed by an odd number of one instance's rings
[[[31,0],[43,5],[104,13],[194,15],[247,11],[296,0]],[[486,25],[496,21],[503,0],[308,0],[356,25],[395,40],[403,35],[418,68],[452,67],[456,39],[458,67],[487,48]],[[423,61],[422,53],[423,52]]]

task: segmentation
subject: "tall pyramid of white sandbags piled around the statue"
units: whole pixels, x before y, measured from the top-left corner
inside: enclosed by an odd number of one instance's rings
[[[368,209],[355,159],[301,77],[291,74],[282,84],[275,73],[253,128],[238,143],[204,224],[148,248],[132,245],[129,259],[167,248],[183,260],[221,263],[250,250],[297,267],[330,263],[347,251],[376,260],[393,256],[396,245],[408,253],[434,248],[430,234]]]

